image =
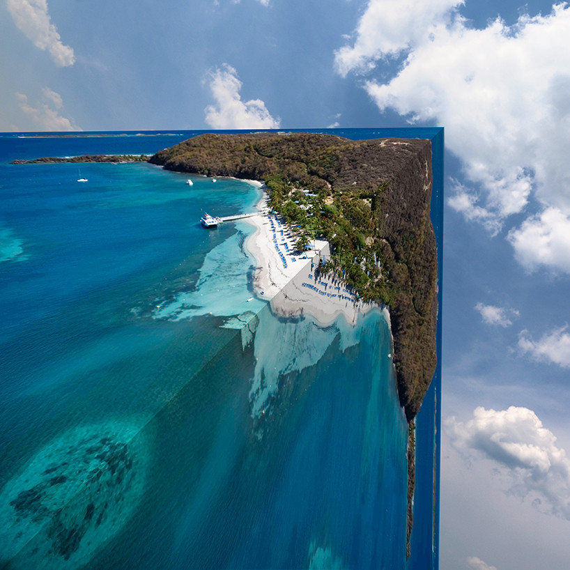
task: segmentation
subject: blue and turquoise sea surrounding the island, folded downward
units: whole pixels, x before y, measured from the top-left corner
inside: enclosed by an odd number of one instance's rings
[[[395,131],[332,132],[438,136]],[[323,327],[247,301],[251,226],[199,219],[252,210],[256,187],[9,164],[194,134],[0,134],[0,567],[437,568],[439,376],[406,562],[390,330],[380,311]]]

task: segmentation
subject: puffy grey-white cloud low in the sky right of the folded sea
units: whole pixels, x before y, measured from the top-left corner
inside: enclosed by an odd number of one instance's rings
[[[509,493],[570,520],[570,460],[532,410],[479,407],[465,423],[448,417],[445,429],[465,459],[491,460]]]

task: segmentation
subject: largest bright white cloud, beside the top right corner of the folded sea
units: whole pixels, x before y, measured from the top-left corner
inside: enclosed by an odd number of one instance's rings
[[[371,80],[367,91],[380,109],[445,125],[449,148],[482,185],[486,209],[497,217],[521,212],[533,185],[540,197],[562,200],[563,189],[550,182],[567,179],[564,153],[555,147],[570,147],[560,128],[570,115],[554,102],[553,89],[559,91],[570,68],[562,39],[569,26],[570,9],[561,6],[510,27],[495,20],[469,29],[460,17],[449,26],[440,22],[396,77],[387,84]]]

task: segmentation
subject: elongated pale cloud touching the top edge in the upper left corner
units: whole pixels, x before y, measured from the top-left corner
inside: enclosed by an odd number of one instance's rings
[[[61,37],[47,13],[47,0],[6,0],[8,11],[16,26],[33,45],[47,49],[56,66],[66,67],[75,63],[75,54]]]

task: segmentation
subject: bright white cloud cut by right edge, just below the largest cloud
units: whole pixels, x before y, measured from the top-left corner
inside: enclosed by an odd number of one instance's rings
[[[540,265],[570,273],[570,215],[550,206],[525,219],[507,236],[516,259],[529,270]]]

